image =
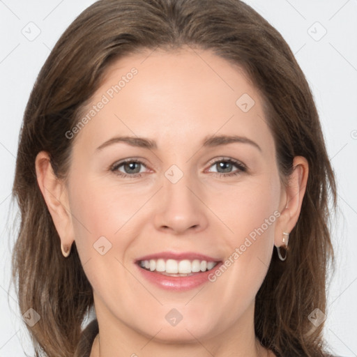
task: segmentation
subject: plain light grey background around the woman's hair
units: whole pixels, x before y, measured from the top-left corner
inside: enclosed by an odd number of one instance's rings
[[[10,192],[22,115],[54,43],[93,2],[0,0],[0,357],[33,355],[15,294],[8,290],[17,213],[16,207],[10,210]],[[339,190],[333,225],[337,270],[325,335],[336,354],[357,356],[357,0],[246,2],[282,33],[314,93]],[[39,36],[31,38],[36,31]]]

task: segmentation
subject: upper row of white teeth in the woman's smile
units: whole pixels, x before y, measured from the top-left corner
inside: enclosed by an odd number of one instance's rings
[[[217,263],[214,261],[198,260],[190,261],[188,259],[175,260],[175,259],[150,259],[140,261],[140,266],[151,271],[162,271],[172,274],[189,274],[198,273],[199,271],[211,270]]]

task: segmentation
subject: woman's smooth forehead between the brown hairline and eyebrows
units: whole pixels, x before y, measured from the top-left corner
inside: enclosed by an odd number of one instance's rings
[[[241,68],[208,50],[146,50],[119,59],[85,116],[78,136],[96,147],[114,133],[151,137],[159,146],[165,138],[182,144],[215,132],[273,144],[255,86]]]

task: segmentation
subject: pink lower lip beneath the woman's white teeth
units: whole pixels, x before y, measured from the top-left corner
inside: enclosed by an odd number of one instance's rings
[[[195,289],[195,287],[199,287],[205,282],[209,282],[208,275],[213,273],[217,268],[222,265],[222,261],[220,261],[214,268],[210,271],[204,271],[202,273],[195,273],[194,275],[189,276],[167,276],[157,273],[156,271],[147,271],[139,266],[139,264],[135,264],[139,269],[140,273],[152,282],[156,286],[166,289],[166,290],[174,290],[174,291],[185,291],[190,289]]]

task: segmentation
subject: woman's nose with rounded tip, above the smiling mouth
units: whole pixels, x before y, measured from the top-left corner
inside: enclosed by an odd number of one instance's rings
[[[197,186],[188,175],[183,175],[176,183],[165,178],[154,218],[156,229],[175,235],[206,229],[208,208],[202,199],[202,190]]]

